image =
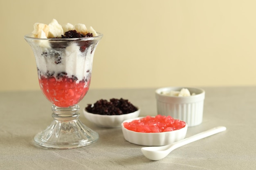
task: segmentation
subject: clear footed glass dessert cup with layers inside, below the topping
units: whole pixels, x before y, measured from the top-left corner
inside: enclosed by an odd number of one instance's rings
[[[87,93],[92,60],[102,34],[88,38],[32,38],[25,35],[36,58],[41,91],[53,104],[53,121],[34,137],[48,148],[78,148],[99,139],[79,120],[78,103]]]

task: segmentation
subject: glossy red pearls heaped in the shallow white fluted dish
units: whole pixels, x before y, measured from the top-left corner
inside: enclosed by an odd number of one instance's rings
[[[168,132],[179,130],[186,126],[184,121],[173,119],[171,116],[157,115],[155,117],[146,116],[142,119],[124,122],[124,127],[135,132]]]

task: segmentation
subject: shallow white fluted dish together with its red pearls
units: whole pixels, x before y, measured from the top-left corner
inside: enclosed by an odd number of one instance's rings
[[[122,123],[124,138],[143,146],[163,146],[184,139],[187,128],[184,121],[162,115],[138,117]]]

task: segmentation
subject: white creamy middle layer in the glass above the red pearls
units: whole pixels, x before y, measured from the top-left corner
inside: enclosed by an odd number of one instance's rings
[[[38,72],[39,78],[42,75],[45,77],[47,75],[57,77],[62,72],[67,73],[67,77],[75,76],[77,82],[89,78],[94,54],[92,46],[87,47],[83,53],[80,51],[80,46],[77,46],[76,43],[72,43],[66,49],[40,49],[42,51],[38,51],[36,55],[36,65],[40,71]],[[91,51],[93,52],[91,53]],[[58,61],[59,63],[56,64]]]

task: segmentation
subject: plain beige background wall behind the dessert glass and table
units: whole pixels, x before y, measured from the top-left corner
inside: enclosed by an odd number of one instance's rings
[[[39,90],[33,24],[104,34],[91,88],[255,86],[255,0],[0,1],[0,91]]]

